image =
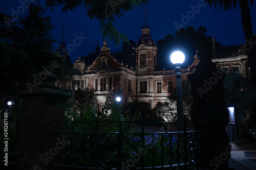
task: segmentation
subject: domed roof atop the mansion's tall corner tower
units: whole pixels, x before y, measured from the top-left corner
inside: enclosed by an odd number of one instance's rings
[[[150,27],[143,26],[141,31],[142,34],[136,44],[136,47],[139,47],[141,44],[144,44],[145,46],[156,46],[155,42],[150,36]]]

